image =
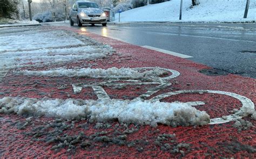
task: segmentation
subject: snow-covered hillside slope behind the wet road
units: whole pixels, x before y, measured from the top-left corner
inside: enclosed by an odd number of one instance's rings
[[[182,20],[179,20],[180,0],[151,4],[120,13],[120,22],[126,21],[205,21],[236,22],[255,21],[256,1],[250,2],[248,16],[244,19],[246,0],[199,0],[192,9],[191,0],[183,1]],[[116,14],[116,22],[118,13]]]

